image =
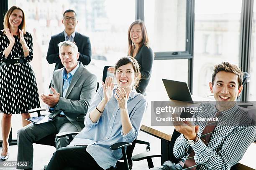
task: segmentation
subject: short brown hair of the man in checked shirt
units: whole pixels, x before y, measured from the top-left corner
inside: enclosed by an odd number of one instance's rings
[[[229,62],[222,62],[221,64],[215,65],[212,74],[212,84],[215,80],[215,76],[220,71],[231,72],[238,75],[238,84],[241,87],[243,83],[243,72],[237,65],[230,64]]]

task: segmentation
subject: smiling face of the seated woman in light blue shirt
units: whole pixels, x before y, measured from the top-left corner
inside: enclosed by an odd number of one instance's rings
[[[115,78],[119,88],[124,88],[126,92],[130,91],[136,79],[133,65],[128,63],[117,68]]]

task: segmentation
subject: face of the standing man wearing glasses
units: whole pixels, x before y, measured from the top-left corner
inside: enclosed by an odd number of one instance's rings
[[[75,30],[78,23],[76,14],[72,12],[65,13],[62,23],[64,24],[65,30]]]

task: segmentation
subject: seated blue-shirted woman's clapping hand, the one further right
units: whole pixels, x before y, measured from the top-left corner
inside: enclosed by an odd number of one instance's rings
[[[117,88],[115,90],[115,99],[118,101],[118,107],[120,109],[127,109],[127,101],[129,98],[130,92],[126,93],[124,88],[120,90],[120,88]]]

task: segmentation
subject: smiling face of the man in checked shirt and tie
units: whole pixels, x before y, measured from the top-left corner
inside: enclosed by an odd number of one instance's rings
[[[236,101],[243,90],[243,85],[239,87],[238,75],[232,72],[220,71],[215,76],[214,84],[210,82],[210,90],[216,101],[223,101],[218,103],[224,107],[223,104],[227,106],[228,101],[229,103],[233,103],[230,101]]]

